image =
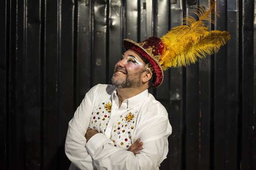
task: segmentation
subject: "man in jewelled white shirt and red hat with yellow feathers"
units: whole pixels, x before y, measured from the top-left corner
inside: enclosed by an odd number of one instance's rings
[[[215,1],[205,9],[197,8],[198,21],[184,18],[186,25],[162,38],[140,43],[124,39],[127,51],[114,68],[114,85],[91,88],[69,122],[69,169],[159,169],[172,127],[165,108],[147,88],[161,85],[163,70],[195,63],[230,39],[227,31],[208,31],[204,24],[214,23]]]

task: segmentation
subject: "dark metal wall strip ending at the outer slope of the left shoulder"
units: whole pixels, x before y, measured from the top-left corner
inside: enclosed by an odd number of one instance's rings
[[[85,93],[91,87],[91,4],[89,1],[77,1],[76,24],[74,30],[76,44],[74,46],[75,54],[75,84],[76,84],[76,101],[75,106],[82,101]],[[76,28],[76,29],[75,29]],[[85,69],[87,68],[87,69]]]

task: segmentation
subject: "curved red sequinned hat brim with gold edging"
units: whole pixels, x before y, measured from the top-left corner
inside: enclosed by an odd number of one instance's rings
[[[149,52],[144,49],[142,46],[140,46],[138,43],[130,40],[130,39],[124,39],[123,40],[124,47],[126,50],[133,50],[135,52],[138,52],[140,55],[142,55],[146,60],[151,64],[153,67],[153,84],[152,88],[156,88],[160,86],[163,82],[163,70],[154,58],[152,58],[149,54]]]

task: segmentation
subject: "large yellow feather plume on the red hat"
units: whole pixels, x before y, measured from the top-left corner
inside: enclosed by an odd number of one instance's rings
[[[208,31],[208,26],[205,25],[205,22],[214,24],[214,16],[219,16],[215,12],[215,1],[209,10],[199,6],[193,13],[197,15],[198,21],[192,16],[187,16],[183,25],[172,28],[161,38],[165,48],[159,63],[163,70],[195,63],[199,58],[218,52],[230,39],[227,31]]]

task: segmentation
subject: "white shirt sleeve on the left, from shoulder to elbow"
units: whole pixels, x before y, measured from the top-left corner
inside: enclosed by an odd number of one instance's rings
[[[73,118],[68,123],[65,141],[65,153],[68,159],[83,170],[91,170],[94,166],[92,158],[86,150],[86,138],[84,137],[90,123],[93,91],[94,88],[87,92]]]

